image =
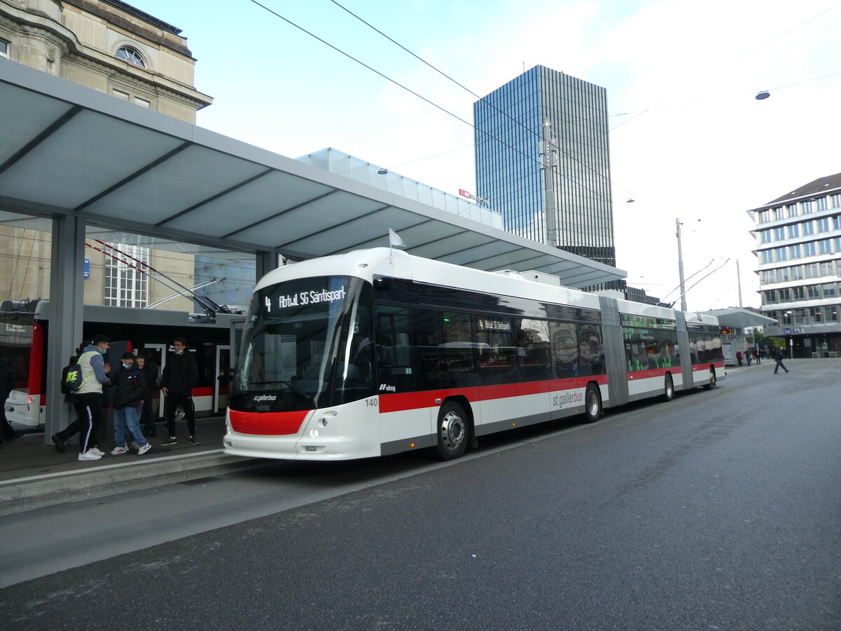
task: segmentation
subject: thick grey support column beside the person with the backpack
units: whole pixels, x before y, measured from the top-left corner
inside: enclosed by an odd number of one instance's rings
[[[50,330],[47,336],[46,416],[44,443],[64,429],[76,416],[73,406],[61,394],[61,369],[82,341],[84,290],[85,221],[64,215],[52,222],[52,264],[50,272]]]

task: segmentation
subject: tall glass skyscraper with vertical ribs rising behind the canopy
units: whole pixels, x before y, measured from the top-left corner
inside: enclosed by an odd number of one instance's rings
[[[605,88],[534,66],[473,121],[477,195],[505,229],[616,266]]]

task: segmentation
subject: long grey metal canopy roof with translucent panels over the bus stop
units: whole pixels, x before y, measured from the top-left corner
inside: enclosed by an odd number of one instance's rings
[[[311,258],[388,245],[584,287],[626,273],[0,59],[0,211]],[[0,220],[3,220],[0,212]]]

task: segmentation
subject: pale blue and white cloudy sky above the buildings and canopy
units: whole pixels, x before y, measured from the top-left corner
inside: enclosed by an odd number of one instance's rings
[[[538,64],[593,82],[616,266],[679,300],[680,220],[689,310],[758,307],[748,209],[841,172],[834,0],[260,2],[283,19],[252,0],[130,0],[188,38],[214,98],[199,126],[293,158],[331,146],[458,195],[475,191],[475,95]]]

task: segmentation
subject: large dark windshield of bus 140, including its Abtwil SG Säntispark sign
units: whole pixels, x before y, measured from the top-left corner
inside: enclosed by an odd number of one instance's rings
[[[374,394],[371,285],[346,276],[261,289],[230,397],[237,411],[312,410]]]

